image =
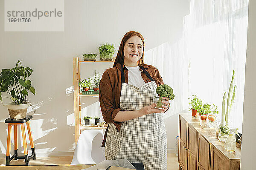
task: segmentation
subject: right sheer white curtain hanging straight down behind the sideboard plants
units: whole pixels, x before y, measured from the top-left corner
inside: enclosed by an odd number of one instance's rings
[[[185,19],[189,57],[189,96],[218,106],[228,93],[233,70],[236,96],[231,127],[242,130],[248,0],[191,0]],[[227,95],[226,95],[227,101]],[[227,104],[226,104],[227,106]]]

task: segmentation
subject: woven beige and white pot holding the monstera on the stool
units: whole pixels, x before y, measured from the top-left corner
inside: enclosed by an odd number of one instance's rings
[[[14,102],[10,104],[5,104],[8,108],[9,115],[12,119],[14,120],[19,120],[26,118],[26,112],[31,103],[26,103],[26,104],[15,104]]]

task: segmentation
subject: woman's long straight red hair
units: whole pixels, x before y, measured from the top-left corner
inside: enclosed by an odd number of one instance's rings
[[[129,31],[122,38],[122,41],[120,43],[119,50],[117,52],[116,60],[114,62],[113,67],[115,67],[117,63],[120,63],[120,64],[124,63],[125,55],[124,55],[123,51],[124,51],[125,43],[129,38],[131,38],[134,35],[140,37],[140,39],[142,40],[142,43],[143,43],[143,53],[142,53],[142,56],[141,56],[140,60],[138,61],[138,65],[141,66],[142,64],[144,64],[144,60],[143,60],[143,56],[144,56],[144,38],[139,32]]]

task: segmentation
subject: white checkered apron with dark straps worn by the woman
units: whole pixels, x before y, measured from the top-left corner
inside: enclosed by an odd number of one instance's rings
[[[139,110],[154,103],[158,97],[157,84],[143,66],[143,72],[151,80],[140,88],[125,83],[124,67],[121,66],[122,90],[120,108]],[[109,124],[105,157],[107,160],[127,158],[130,162],[143,162],[145,170],[167,170],[167,140],[162,113],[151,113],[123,121],[120,131]]]

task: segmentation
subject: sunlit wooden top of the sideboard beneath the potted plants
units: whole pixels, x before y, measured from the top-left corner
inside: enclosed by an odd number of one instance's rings
[[[218,140],[215,135],[215,128],[209,128],[208,124],[205,127],[201,127],[199,124],[199,118],[192,118],[191,113],[180,113],[180,116],[185,119],[195,130],[198,131],[210,144],[218,149],[224,156],[230,160],[241,159],[241,148],[236,147],[235,152],[228,152],[224,148],[225,142]]]

